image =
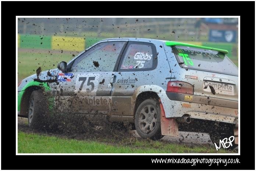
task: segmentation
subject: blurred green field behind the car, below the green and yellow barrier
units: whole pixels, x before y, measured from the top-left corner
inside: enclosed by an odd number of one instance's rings
[[[75,51],[53,51],[53,50],[18,50],[18,82],[29,75],[35,74],[38,67],[42,71],[57,68],[60,61],[70,61],[73,54],[76,56],[80,52]],[[234,59],[234,60],[232,60]],[[238,66],[238,60],[231,58],[231,60]]]

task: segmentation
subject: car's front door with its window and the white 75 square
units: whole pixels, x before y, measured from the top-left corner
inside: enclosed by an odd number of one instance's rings
[[[111,80],[125,40],[97,43],[68,64],[68,72],[58,72],[56,108],[58,112],[108,114]]]

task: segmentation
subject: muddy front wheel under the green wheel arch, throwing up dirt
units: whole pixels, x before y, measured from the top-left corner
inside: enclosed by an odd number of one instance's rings
[[[33,91],[29,98],[28,126],[35,129],[46,128],[48,114],[48,103],[43,91]]]

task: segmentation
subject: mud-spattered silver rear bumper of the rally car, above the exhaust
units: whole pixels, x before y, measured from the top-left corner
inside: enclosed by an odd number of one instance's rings
[[[166,95],[168,99],[165,100],[164,110],[169,111],[168,117],[189,114],[191,118],[236,124],[238,101],[185,93],[166,92]]]

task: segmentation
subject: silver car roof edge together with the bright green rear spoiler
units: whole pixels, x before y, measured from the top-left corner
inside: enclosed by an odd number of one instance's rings
[[[206,47],[206,46],[199,46],[195,44],[189,44],[189,43],[182,43],[182,42],[173,42],[173,41],[167,41],[167,40],[158,40],[158,39],[146,39],[146,38],[109,38],[109,39],[103,39],[103,40],[116,40],[116,39],[129,39],[129,41],[138,41],[138,42],[153,42],[153,41],[159,41],[166,44],[166,46],[188,46],[188,47],[195,47],[199,49],[206,49],[206,50],[215,50],[219,51],[221,53],[227,54],[228,51],[224,49],[218,49],[213,47]]]

